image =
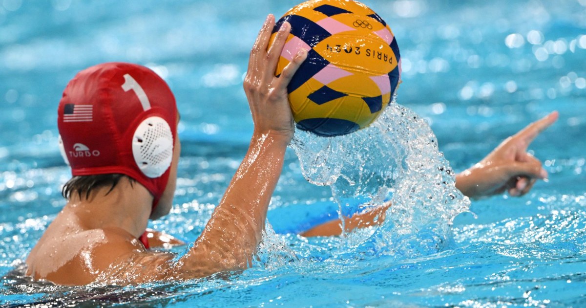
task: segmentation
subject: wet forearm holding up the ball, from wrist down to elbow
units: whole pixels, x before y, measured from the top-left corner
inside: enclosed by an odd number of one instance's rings
[[[267,208],[280,177],[288,138],[255,133],[236,171],[192,251],[184,258],[218,270],[247,268],[261,241]],[[195,256],[197,255],[197,256]]]

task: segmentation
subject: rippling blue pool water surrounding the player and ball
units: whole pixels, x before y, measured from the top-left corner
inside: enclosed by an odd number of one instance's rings
[[[586,2],[364,2],[401,49],[397,102],[431,124],[455,171],[559,110],[530,147],[549,182],[521,198],[473,201],[435,251],[370,253],[360,245],[369,230],[325,239],[269,233],[254,268],[240,273],[125,288],[10,277],[0,305],[584,306]],[[195,241],[247,149],[241,81],[258,28],[267,13],[295,4],[0,1],[0,274],[19,267],[65,203],[59,188],[70,174],[56,106],[69,79],[99,62],[152,67],[176,94],[176,205],[152,226]],[[285,159],[268,214],[276,232],[331,213],[331,189],[306,182],[294,151]]]

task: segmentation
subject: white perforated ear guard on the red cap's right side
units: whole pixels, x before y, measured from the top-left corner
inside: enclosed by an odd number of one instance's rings
[[[132,137],[132,155],[138,168],[149,178],[163,175],[173,158],[173,133],[161,117],[148,117]]]

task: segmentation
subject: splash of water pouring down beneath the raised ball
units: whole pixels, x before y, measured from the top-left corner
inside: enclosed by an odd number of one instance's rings
[[[332,188],[341,217],[391,202],[386,221],[350,233],[347,247],[406,257],[437,252],[451,242],[452,219],[468,209],[427,122],[394,101],[356,133],[297,131],[292,147],[306,180]]]

